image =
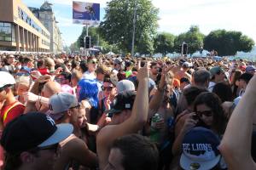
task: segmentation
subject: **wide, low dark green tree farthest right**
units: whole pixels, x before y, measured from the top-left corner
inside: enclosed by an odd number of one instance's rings
[[[237,51],[249,52],[253,46],[253,39],[242,35],[241,31],[211,31],[204,39],[204,48],[214,49],[220,56],[235,55]]]

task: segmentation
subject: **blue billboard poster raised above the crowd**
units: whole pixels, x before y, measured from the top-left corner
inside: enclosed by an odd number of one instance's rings
[[[73,24],[99,25],[100,3],[73,1]]]

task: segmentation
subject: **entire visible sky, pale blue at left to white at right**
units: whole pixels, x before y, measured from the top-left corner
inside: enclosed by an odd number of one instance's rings
[[[70,45],[77,40],[83,28],[72,24],[72,0],[48,1],[53,3],[64,45]],[[39,8],[44,0],[22,0],[22,2],[27,6]],[[101,3],[102,20],[105,14],[104,7],[108,1],[84,2]],[[178,35],[188,31],[191,25],[196,25],[206,35],[217,29],[241,31],[256,42],[255,0],[152,0],[152,2],[154,6],[160,8],[158,31]]]

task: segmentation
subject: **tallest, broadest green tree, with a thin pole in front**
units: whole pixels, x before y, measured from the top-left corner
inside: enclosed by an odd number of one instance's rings
[[[131,52],[136,11],[135,52],[153,52],[159,10],[150,0],[112,0],[105,9],[106,15],[101,22],[100,33],[109,44],[119,46],[124,52]]]

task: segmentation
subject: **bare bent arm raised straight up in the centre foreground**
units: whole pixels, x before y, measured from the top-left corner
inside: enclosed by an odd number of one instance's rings
[[[137,133],[148,120],[148,64],[138,71],[139,81],[137,95],[131,111],[131,116],[119,125],[109,125],[98,133],[96,144],[100,168],[108,164],[108,155],[113,141],[125,134]]]

